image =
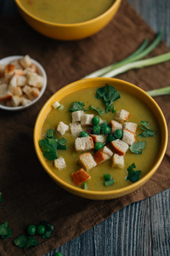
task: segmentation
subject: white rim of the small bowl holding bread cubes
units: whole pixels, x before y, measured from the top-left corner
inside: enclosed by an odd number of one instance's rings
[[[24,57],[24,55],[11,55],[11,56],[8,56],[8,57],[4,57],[3,59],[0,60],[0,64],[8,65],[8,63],[10,61],[20,60],[23,57]],[[29,107],[31,107],[31,105],[33,105],[37,101],[39,101],[39,99],[42,97],[44,91],[46,90],[47,83],[48,83],[47,74],[45,72],[45,69],[42,67],[42,65],[38,61],[36,61],[32,58],[31,58],[31,61],[34,62],[37,65],[39,73],[44,78],[44,82],[43,82],[43,85],[42,85],[42,89],[40,90],[39,96],[36,99],[34,99],[33,101],[31,101],[30,103],[26,104],[26,106],[8,107],[8,106],[4,106],[3,104],[0,103],[0,109],[4,109],[4,110],[8,110],[8,111],[18,111],[18,110],[22,110],[22,109],[25,109],[25,108],[29,108]]]

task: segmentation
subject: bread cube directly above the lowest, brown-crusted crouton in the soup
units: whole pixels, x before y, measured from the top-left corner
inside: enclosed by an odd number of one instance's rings
[[[96,166],[96,162],[94,161],[94,157],[90,153],[83,153],[79,155],[79,162],[82,165],[82,167],[86,170],[89,171],[92,169],[94,166]]]

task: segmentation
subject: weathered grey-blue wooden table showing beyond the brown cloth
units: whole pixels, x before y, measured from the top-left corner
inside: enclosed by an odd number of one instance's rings
[[[170,47],[170,0],[128,0]],[[0,15],[17,12],[14,0],[0,0]],[[170,85],[170,81],[164,86]],[[124,207],[101,224],[65,243],[52,256],[169,256],[170,189]]]

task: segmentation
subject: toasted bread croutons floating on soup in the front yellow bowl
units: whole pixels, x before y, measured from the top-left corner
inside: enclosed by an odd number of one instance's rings
[[[88,172],[95,166],[100,165],[105,160],[111,160],[113,168],[124,167],[124,157],[129,146],[135,143],[135,133],[137,124],[128,122],[129,113],[122,109],[116,112],[115,119],[111,120],[111,133],[113,134],[117,129],[123,131],[122,139],[116,139],[111,141],[109,148],[106,146],[106,136],[103,134],[95,135],[89,134],[88,137],[79,137],[84,127],[92,125],[92,119],[94,114],[84,113],[82,110],[75,111],[72,114],[72,123],[66,125],[62,121],[57,126],[57,131],[60,135],[65,135],[66,131],[71,131],[71,135],[75,137],[75,150],[82,154],[79,155],[78,162],[82,166],[77,172],[71,173],[72,181],[77,185],[84,183],[90,178]],[[102,124],[103,120],[100,120]],[[94,144],[100,142],[104,144],[104,148],[100,148],[98,151],[91,154],[94,150]],[[91,151],[91,152],[88,152]],[[62,164],[61,164],[62,163]],[[65,168],[65,160],[60,157],[54,160],[54,166],[57,169]]]

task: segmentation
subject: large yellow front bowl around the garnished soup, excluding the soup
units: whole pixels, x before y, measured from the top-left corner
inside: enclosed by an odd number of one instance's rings
[[[48,112],[52,108],[52,104],[54,102],[60,101],[62,98],[64,98],[65,96],[67,96],[73,91],[81,90],[82,88],[90,89],[92,87],[96,87],[96,88],[102,87],[104,86],[104,84],[111,84],[112,86],[115,86],[117,90],[124,90],[127,93],[138,97],[150,108],[152,113],[156,116],[156,119],[161,129],[161,145],[159,149],[159,154],[157,156],[156,163],[152,167],[150,172],[148,172],[144,177],[139,179],[138,182],[133,183],[125,188],[113,189],[111,191],[90,191],[90,190],[79,189],[74,186],[71,186],[68,183],[65,183],[65,181],[57,177],[57,175],[54,174],[54,172],[52,172],[52,170],[44,160],[42,151],[38,144],[38,141],[40,139],[42,124]],[[121,197],[123,195],[127,195],[133,192],[134,190],[139,189],[139,187],[141,187],[144,183],[146,183],[150,179],[150,177],[152,177],[152,175],[156,172],[156,169],[158,168],[158,166],[160,166],[161,160],[163,159],[164,154],[166,152],[166,148],[167,148],[167,123],[163,113],[161,112],[161,108],[159,108],[157,103],[146,92],[144,92],[144,90],[141,90],[139,87],[119,79],[105,79],[105,78],[82,79],[72,84],[66,85],[65,87],[57,91],[54,94],[54,96],[51,96],[48,102],[46,102],[45,105],[42,107],[42,110],[37,116],[37,121],[34,128],[34,145],[36,148],[37,157],[40,160],[43,168],[48,173],[48,175],[52,177],[52,179],[54,179],[54,182],[58,183],[59,186],[61,186],[63,189],[71,192],[74,195],[79,195],[88,199],[108,200],[108,199]]]

